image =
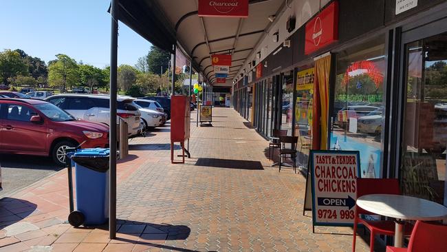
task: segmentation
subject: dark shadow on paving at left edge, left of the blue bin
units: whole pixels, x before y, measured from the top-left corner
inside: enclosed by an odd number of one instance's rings
[[[2,198],[0,200],[0,229],[19,222],[36,211],[36,204],[17,198]]]

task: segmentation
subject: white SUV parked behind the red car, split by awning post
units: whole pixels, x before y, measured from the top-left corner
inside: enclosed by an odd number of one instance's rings
[[[100,94],[56,94],[45,98],[78,119],[109,125],[110,96]],[[133,98],[118,96],[117,116],[128,125],[129,137],[142,134],[141,113],[132,105]]]

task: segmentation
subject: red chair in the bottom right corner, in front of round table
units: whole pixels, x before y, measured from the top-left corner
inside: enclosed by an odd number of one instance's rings
[[[447,251],[447,225],[417,221],[408,249],[386,246],[386,252]]]

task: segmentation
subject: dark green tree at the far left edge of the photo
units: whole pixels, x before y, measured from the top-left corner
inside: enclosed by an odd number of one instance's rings
[[[28,65],[19,52],[4,50],[0,52],[0,76],[3,84],[8,84],[8,78],[28,74]]]

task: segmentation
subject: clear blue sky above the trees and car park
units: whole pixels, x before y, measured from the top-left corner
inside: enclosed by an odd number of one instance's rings
[[[46,63],[56,54],[105,67],[110,61],[110,0],[0,0],[0,51],[24,50]],[[151,43],[120,23],[118,64],[135,65]]]

